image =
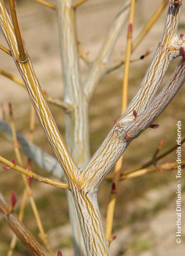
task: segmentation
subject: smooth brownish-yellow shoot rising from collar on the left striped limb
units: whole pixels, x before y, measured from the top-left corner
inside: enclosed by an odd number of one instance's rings
[[[21,38],[21,32],[20,32],[20,29],[18,26],[16,7],[15,7],[14,0],[9,0],[9,7],[10,7],[11,16],[12,16],[12,22],[14,25],[14,31],[15,31],[15,36],[16,36],[16,40],[17,40],[17,45],[18,45],[18,53],[19,53],[18,59],[21,61],[25,61],[27,59],[27,55],[24,50],[23,40]]]

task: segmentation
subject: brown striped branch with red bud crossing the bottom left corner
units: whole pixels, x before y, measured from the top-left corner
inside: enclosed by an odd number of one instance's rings
[[[0,214],[5,219],[10,228],[14,231],[18,239],[28,248],[32,255],[51,256],[25,228],[23,223],[18,220],[14,211],[9,212],[10,206],[5,201],[0,192]]]

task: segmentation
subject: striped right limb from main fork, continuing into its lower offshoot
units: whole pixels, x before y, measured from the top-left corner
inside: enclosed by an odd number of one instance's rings
[[[84,184],[84,189],[97,190],[99,184],[109,173],[113,164],[120,158],[130,142],[160,116],[183,85],[184,80],[185,61],[182,59],[169,82],[148,108],[130,122],[122,122],[124,115],[118,120],[103,144],[82,171],[81,182]]]

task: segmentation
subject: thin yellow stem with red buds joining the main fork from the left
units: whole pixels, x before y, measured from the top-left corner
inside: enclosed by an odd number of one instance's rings
[[[2,156],[0,156],[0,162],[6,164],[10,168],[18,171],[19,173],[25,174],[26,176],[28,176],[28,177],[30,177],[30,178],[32,178],[34,180],[37,180],[39,182],[52,185],[54,187],[61,187],[61,188],[69,190],[69,185],[67,185],[65,183],[62,183],[60,181],[56,181],[56,180],[52,180],[52,179],[40,176],[40,175],[38,175],[38,174],[36,174],[36,173],[34,173],[32,171],[27,171],[27,170],[25,170],[24,168],[22,168],[22,167],[20,167],[18,165],[14,165],[12,162],[8,161],[7,159],[5,159]]]

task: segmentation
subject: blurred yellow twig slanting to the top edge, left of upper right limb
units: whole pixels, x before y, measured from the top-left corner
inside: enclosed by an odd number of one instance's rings
[[[150,28],[153,26],[153,24],[157,21],[157,19],[160,17],[160,14],[163,12],[164,8],[168,4],[168,0],[164,0],[162,4],[157,8],[153,16],[150,18],[146,26],[143,28],[141,33],[139,33],[139,36],[136,37],[136,40],[134,40],[134,43],[132,44],[132,52],[136,49],[136,47],[141,43],[143,38],[146,36]]]

